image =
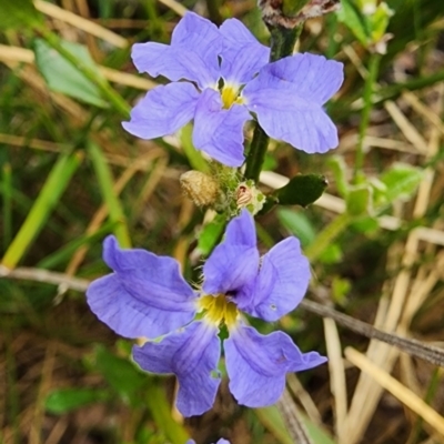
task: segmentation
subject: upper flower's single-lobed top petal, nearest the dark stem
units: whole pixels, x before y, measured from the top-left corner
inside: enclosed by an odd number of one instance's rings
[[[229,83],[246,83],[268,63],[270,48],[259,43],[236,19],[225,20],[220,32],[223,36],[222,77]]]

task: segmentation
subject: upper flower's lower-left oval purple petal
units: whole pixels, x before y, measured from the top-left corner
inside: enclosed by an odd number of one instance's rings
[[[191,83],[170,83],[149,91],[131,111],[122,127],[142,139],[172,134],[193,117],[199,92]]]

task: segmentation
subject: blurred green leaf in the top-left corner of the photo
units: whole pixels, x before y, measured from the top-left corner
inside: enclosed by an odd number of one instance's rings
[[[1,0],[0,30],[38,28],[43,23],[42,16],[32,0]]]

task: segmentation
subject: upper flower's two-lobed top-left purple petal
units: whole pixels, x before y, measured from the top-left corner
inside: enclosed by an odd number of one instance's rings
[[[172,81],[186,79],[201,88],[215,87],[220,77],[218,56],[222,39],[209,20],[189,12],[174,28],[171,46],[137,43],[132,59],[139,72],[164,75]]]

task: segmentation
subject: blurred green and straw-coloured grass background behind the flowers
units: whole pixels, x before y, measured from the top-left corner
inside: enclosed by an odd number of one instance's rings
[[[302,240],[317,303],[258,327],[286,331],[329,365],[290,375],[280,408],[243,408],[224,382],[211,412],[184,421],[174,379],[141,373],[84,290],[108,273],[108,233],[173,255],[192,276],[211,215],[182,195],[179,176],[199,157],[186,130],[141,141],[121,128],[160,81],[135,73],[130,49],[169,42],[186,9],[216,23],[240,18],[268,42],[255,1],[36,0],[36,14],[31,2],[2,0],[1,443],[291,443],[292,420],[316,444],[444,442],[443,359],[433,349],[444,340],[444,2],[387,3],[393,38],[381,57],[369,50],[359,2],[306,22],[299,50],[345,64],[329,104],[341,144],[305,155],[273,142],[262,176],[265,191],[299,172],[329,180],[314,205],[258,219],[264,251],[290,234]]]

